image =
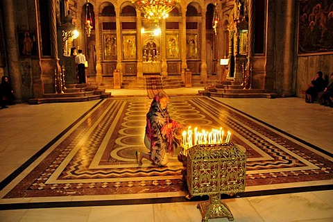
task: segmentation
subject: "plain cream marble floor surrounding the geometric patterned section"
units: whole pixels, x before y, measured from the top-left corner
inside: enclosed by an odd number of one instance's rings
[[[200,88],[164,89],[172,98],[196,94]],[[114,98],[146,96],[145,90],[110,89]],[[296,137],[333,161],[333,109],[300,98],[223,99],[226,106]],[[0,110],[0,221],[201,221],[197,200],[155,194],[142,201],[142,194],[3,198],[28,175],[28,160],[39,154],[99,101],[81,103],[17,104]],[[317,148],[317,149],[316,149]],[[43,153],[42,155],[46,155]],[[332,169],[327,169],[332,170]],[[234,221],[333,221],[333,178],[248,189],[248,194],[225,198]],[[325,187],[321,190],[321,187]],[[256,192],[257,190],[262,192]],[[266,192],[265,191],[270,191]],[[276,192],[274,192],[276,191]],[[179,195],[178,195],[179,196]],[[182,194],[180,194],[182,196]],[[158,198],[168,201],[159,201]],[[118,201],[116,201],[118,200]],[[119,201],[121,200],[121,201]],[[53,202],[53,205],[44,203]],[[20,207],[17,207],[20,203]],[[12,210],[13,209],[13,210]],[[228,221],[227,218],[209,221]]]

